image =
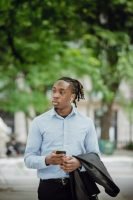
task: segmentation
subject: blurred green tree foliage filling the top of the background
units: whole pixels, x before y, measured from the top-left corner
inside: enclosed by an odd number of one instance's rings
[[[131,0],[1,0],[0,107],[42,112],[64,75],[90,76],[92,92],[111,104],[133,78],[132,8]]]

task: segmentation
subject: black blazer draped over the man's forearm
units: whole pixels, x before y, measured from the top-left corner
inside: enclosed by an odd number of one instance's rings
[[[86,172],[75,170],[70,173],[71,190],[74,200],[88,200],[94,194],[100,193],[96,183],[105,188],[105,192],[115,197],[120,189],[114,183],[109,172],[96,153],[74,156],[77,158]]]

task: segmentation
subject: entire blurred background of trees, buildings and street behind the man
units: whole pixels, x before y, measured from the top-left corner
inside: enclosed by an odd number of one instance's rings
[[[95,122],[118,199],[133,199],[133,1],[0,0],[0,200],[37,199],[23,154],[61,76],[83,83],[78,109]]]

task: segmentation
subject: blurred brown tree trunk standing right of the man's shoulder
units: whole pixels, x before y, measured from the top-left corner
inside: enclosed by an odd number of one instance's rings
[[[100,119],[101,139],[109,140],[109,129],[112,121],[112,104],[107,105],[107,111],[103,113]]]

